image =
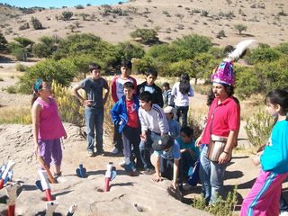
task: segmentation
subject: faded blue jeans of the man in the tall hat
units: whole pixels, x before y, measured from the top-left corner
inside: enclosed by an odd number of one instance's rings
[[[228,163],[218,164],[207,159],[207,145],[202,145],[199,176],[206,203],[217,202],[223,194],[224,173]]]

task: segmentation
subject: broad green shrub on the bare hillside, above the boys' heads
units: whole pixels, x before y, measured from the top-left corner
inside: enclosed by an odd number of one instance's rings
[[[140,38],[144,44],[153,44],[158,41],[157,31],[154,29],[137,29],[130,33],[131,38]]]

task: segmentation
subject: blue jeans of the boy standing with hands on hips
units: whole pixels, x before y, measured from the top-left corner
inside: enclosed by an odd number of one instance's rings
[[[103,120],[104,110],[101,108],[85,107],[85,122],[87,132],[87,151],[94,152],[94,137],[96,131],[96,149],[103,151]]]

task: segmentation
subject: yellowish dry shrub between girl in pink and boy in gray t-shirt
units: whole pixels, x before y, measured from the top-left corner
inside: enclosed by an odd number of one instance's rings
[[[77,102],[76,98],[71,94],[71,89],[63,87],[55,81],[52,82],[51,87],[58,103],[58,112],[61,120],[76,124],[79,127],[84,126],[84,106]]]

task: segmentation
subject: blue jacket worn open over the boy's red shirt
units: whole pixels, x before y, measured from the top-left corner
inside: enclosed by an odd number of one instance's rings
[[[138,115],[139,100],[135,94],[133,94],[133,102],[135,103],[135,109]],[[117,125],[117,124],[120,125],[119,133],[121,133],[124,127],[128,123],[128,113],[127,113],[127,108],[126,108],[126,96],[125,95],[123,95],[121,99],[113,105],[110,114],[111,114],[114,125]]]

